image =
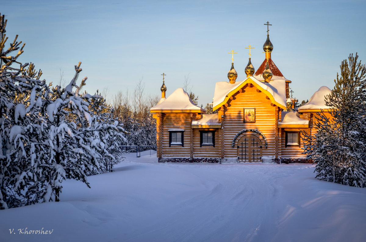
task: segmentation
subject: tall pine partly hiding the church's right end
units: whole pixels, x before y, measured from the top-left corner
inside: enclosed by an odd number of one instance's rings
[[[319,113],[318,132],[305,133],[308,159],[317,162],[317,178],[366,187],[366,67],[353,54],[340,65],[335,87],[325,97],[331,118]]]

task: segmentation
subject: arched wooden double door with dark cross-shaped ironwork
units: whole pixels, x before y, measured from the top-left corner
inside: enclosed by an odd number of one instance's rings
[[[244,135],[238,141],[238,162],[260,162],[262,142],[255,135]]]

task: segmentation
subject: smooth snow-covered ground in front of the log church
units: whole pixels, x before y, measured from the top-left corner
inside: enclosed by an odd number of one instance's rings
[[[365,241],[366,189],[319,181],[313,165],[149,154],[89,177],[91,189],[64,182],[59,203],[1,210],[0,241]]]

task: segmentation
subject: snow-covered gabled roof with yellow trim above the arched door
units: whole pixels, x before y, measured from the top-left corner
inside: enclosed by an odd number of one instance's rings
[[[213,108],[216,110],[221,106],[226,98],[235,94],[245,84],[252,83],[262,91],[267,92],[271,101],[286,109],[286,82],[285,79],[271,80],[270,82],[260,82],[253,76],[247,77],[242,82],[230,84],[228,82],[217,82],[213,97]],[[272,96],[272,98],[270,97]],[[227,101],[227,100],[226,100]]]

